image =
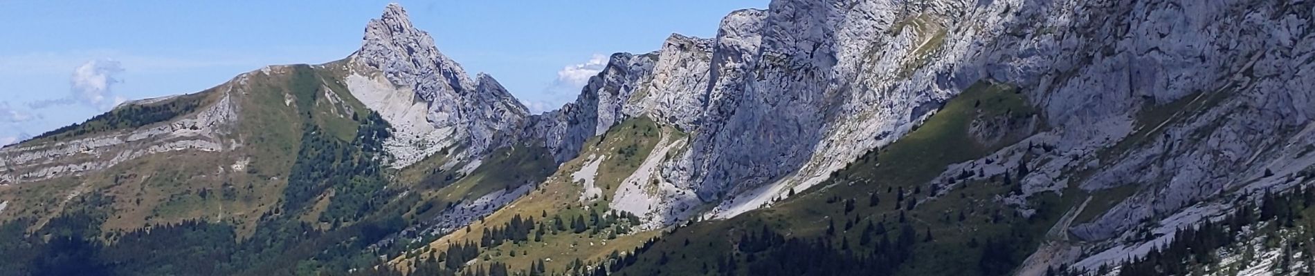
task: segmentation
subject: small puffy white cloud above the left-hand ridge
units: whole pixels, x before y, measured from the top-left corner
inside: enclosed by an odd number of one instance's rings
[[[71,94],[64,98],[29,102],[28,107],[45,109],[50,106],[66,106],[83,103],[96,110],[109,110],[124,101],[121,95],[113,93],[114,84],[122,82],[116,75],[122,73],[124,67],[114,60],[91,60],[74,68],[68,82],[72,86]]]

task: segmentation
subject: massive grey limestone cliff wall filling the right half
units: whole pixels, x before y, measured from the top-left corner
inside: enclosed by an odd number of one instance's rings
[[[651,218],[679,221],[694,215],[679,194],[735,216],[901,137],[973,82],[1015,85],[1048,128],[988,157],[1032,156],[1023,195],[1002,203],[1026,215],[1032,194],[1140,186],[1070,229],[1106,241],[1203,200],[1307,181],[1262,171],[1315,164],[1298,154],[1315,133],[1311,22],[1306,1],[777,0],[727,16],[717,38],[672,35],[650,76],[615,86],[638,88],[626,116],[692,133],[655,177],[679,188],[647,195],[660,203]],[[594,122],[579,133],[615,122],[576,118]],[[1041,144],[1053,150],[1028,147]]]

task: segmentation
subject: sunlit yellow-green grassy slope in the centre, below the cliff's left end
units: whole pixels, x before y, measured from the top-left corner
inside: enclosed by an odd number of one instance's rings
[[[597,209],[600,213],[608,212],[608,203],[615,188],[652,152],[658,144],[660,129],[660,127],[647,118],[630,119],[614,126],[605,135],[585,141],[586,147],[580,157],[563,164],[552,177],[529,195],[489,215],[484,220],[473,222],[469,226],[469,233],[458,230],[444,235],[430,243],[427,249],[417,250],[416,252],[418,254],[412,254],[409,258],[429,258],[427,252],[444,251],[451,243],[464,243],[466,241],[479,242],[485,228],[501,226],[517,215],[525,218],[534,218],[535,221],[548,221],[555,216],[567,220],[575,216],[586,216],[589,209]],[[635,153],[631,156],[622,154],[619,150],[626,148],[633,148]],[[594,182],[597,187],[605,188],[605,196],[581,203],[583,184],[572,183],[571,174],[579,171],[589,156],[608,156],[608,160],[600,165]],[[472,173],[472,175],[475,174]],[[547,217],[543,217],[544,213],[547,213]],[[530,267],[530,262],[552,259],[552,262],[546,263],[548,271],[564,271],[567,263],[571,260],[597,262],[613,251],[633,250],[656,234],[656,232],[642,232],[619,235],[617,239],[608,239],[606,233],[594,237],[589,237],[588,232],[581,234],[569,232],[550,233],[543,237],[542,242],[531,241],[522,245],[508,242],[493,249],[484,249],[480,262],[488,258],[489,262],[506,263],[513,269],[525,269]],[[510,256],[512,251],[517,251],[517,256]],[[398,260],[401,263],[409,262],[406,259]]]

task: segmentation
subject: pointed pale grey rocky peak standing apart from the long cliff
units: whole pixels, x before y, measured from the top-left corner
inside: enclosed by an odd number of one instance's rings
[[[388,143],[398,167],[452,148],[462,148],[463,157],[479,158],[514,140],[510,137],[529,116],[492,76],[480,73],[471,80],[460,64],[438,51],[429,33],[412,26],[397,4],[366,25],[362,47],[348,60],[348,78],[358,80],[350,88],[352,94],[383,98],[367,105],[376,103],[370,109],[401,124],[402,133]],[[416,105],[425,112],[410,111]]]

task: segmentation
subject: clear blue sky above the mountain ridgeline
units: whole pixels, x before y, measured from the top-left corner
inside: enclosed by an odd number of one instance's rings
[[[342,59],[387,3],[0,1],[0,144],[82,122],[118,101],[199,92],[267,64]],[[598,68],[598,58],[658,50],[672,33],[713,37],[726,13],[767,7],[767,0],[400,3],[468,73],[493,75],[537,110],[572,99],[577,76]]]

